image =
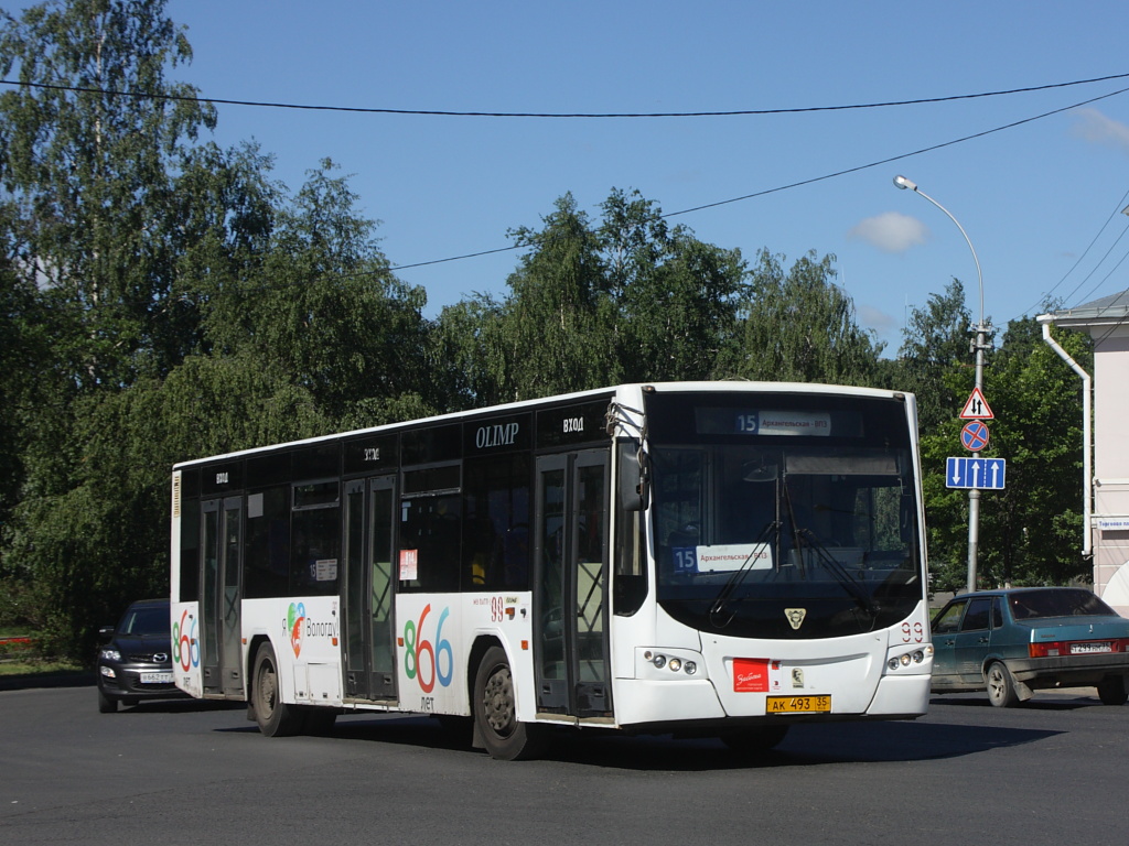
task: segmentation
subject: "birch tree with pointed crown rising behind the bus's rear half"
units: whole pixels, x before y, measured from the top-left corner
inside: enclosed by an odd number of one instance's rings
[[[209,349],[290,373],[327,417],[373,425],[388,422],[371,416],[380,402],[415,394],[414,407],[430,407],[427,298],[391,273],[377,222],[358,213],[348,178],[334,169],[324,160],[292,200],[275,201],[257,263],[203,289],[204,337]]]

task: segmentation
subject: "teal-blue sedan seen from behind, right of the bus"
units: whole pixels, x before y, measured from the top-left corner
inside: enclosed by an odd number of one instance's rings
[[[933,620],[933,691],[987,690],[997,707],[1056,687],[1096,687],[1123,705],[1129,619],[1084,588],[1015,588],[954,598]]]

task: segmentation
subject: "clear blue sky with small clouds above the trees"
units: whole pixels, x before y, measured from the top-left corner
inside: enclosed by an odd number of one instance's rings
[[[170,0],[207,97],[357,108],[520,113],[795,109],[1051,86],[1129,73],[1129,6],[1087,2],[344,2]],[[429,316],[504,294],[511,245],[571,192],[593,218],[638,190],[706,241],[787,264],[834,254],[859,323],[901,342],[910,308],[953,277],[977,317],[961,222],[997,326],[1129,288],[1129,77],[1009,96],[776,115],[502,118],[219,106],[216,140],[257,141],[297,188],[332,158],[382,221]],[[1104,97],[1087,105],[1085,100]],[[1070,108],[1074,106],[1073,108]],[[1066,109],[1040,120],[1048,112]],[[948,142],[990,132],[961,143]],[[876,167],[870,162],[948,144]],[[794,183],[799,187],[774,191]]]

